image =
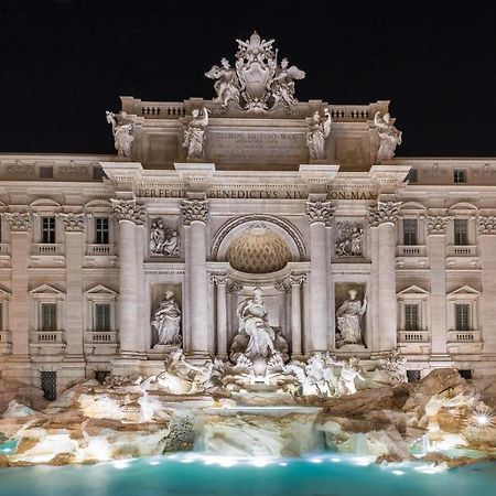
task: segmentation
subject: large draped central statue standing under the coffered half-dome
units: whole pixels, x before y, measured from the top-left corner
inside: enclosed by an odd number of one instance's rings
[[[280,353],[288,358],[288,343],[269,325],[267,306],[262,300],[262,290],[255,288],[254,296],[238,305],[237,313],[244,322],[230,347],[230,359],[236,363],[240,355],[250,360],[269,358]]]

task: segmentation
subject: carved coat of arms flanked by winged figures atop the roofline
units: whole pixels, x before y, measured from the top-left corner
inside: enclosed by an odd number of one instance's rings
[[[224,109],[231,105],[238,109],[261,112],[282,105],[288,111],[296,103],[294,80],[303,79],[305,73],[295,65],[290,66],[287,58],[278,64],[278,51],[272,47],[274,40],[261,40],[255,32],[249,40],[236,40],[236,68],[227,58],[220,67],[214,65],[205,73],[216,79],[214,88]]]

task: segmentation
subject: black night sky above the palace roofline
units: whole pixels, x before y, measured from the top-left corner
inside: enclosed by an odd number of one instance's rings
[[[0,152],[114,153],[120,95],[212,98],[255,29],[300,100],[390,99],[398,155],[496,157],[494,0],[0,0]]]

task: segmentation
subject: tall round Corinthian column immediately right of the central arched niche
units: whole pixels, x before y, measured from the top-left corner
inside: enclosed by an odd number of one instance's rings
[[[310,349],[327,349],[327,266],[325,254],[325,226],[332,218],[331,202],[308,202],[310,222]]]

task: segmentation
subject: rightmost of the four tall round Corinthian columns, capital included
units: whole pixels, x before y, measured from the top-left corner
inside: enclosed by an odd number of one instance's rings
[[[397,302],[396,302],[396,231],[401,202],[378,202],[369,208],[373,228],[378,228],[378,249],[376,250],[378,298],[374,298],[378,312],[378,330],[375,330],[373,343],[379,352],[396,347]]]

